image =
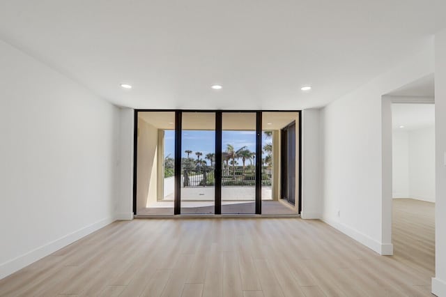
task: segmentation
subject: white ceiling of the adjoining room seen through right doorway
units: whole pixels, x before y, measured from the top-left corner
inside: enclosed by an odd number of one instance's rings
[[[435,125],[435,105],[433,104],[392,104],[393,128],[414,130]],[[399,128],[401,125],[404,128]]]

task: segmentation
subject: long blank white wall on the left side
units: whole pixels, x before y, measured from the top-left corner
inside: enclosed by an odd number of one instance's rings
[[[118,116],[0,41],[0,278],[114,220]]]

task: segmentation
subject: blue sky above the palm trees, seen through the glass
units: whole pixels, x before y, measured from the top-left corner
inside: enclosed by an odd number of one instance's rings
[[[175,151],[175,131],[164,130],[164,158],[170,155],[174,158]],[[195,152],[201,151],[203,157],[207,153],[215,153],[215,131],[213,130],[185,130],[182,132],[182,156],[187,157],[186,150],[192,151],[190,158],[197,158]],[[271,142],[262,135],[262,145]],[[226,151],[226,144],[232,144],[237,151],[243,146],[247,146],[249,151],[256,151],[255,131],[222,131],[222,151]]]

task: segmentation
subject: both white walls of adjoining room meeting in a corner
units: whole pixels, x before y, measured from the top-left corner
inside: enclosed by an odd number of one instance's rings
[[[435,127],[394,130],[393,197],[435,202]]]

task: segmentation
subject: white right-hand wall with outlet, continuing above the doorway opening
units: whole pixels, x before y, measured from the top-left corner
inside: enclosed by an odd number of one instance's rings
[[[433,73],[432,41],[321,111],[323,220],[380,254],[393,252],[392,184],[383,183],[383,176],[392,174],[392,117],[390,102],[385,103],[388,112],[383,112],[382,96]],[[390,122],[387,134],[384,119],[386,125]],[[383,167],[389,163],[390,168]]]

